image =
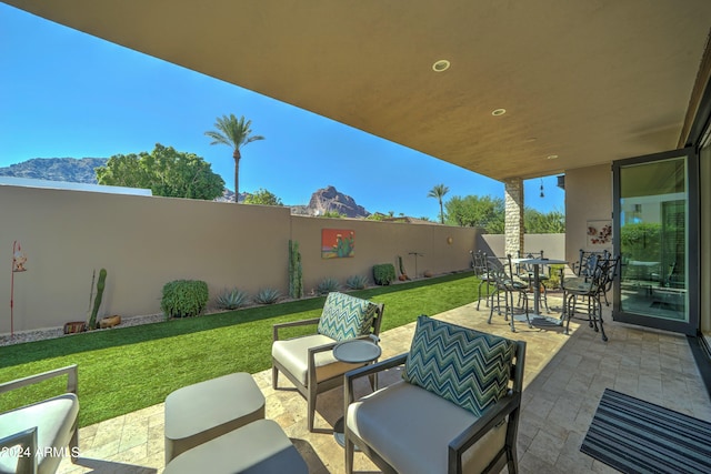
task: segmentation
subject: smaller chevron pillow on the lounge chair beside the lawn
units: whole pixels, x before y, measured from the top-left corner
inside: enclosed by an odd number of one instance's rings
[[[317,331],[337,341],[368,334],[375,309],[370,301],[331,292],[326,299]]]

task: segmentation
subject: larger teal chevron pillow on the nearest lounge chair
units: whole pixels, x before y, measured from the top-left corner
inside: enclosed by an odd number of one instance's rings
[[[515,343],[418,317],[402,377],[477,416],[507,394]]]

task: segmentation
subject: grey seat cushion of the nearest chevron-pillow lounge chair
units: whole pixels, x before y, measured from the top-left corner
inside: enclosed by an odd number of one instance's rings
[[[348,427],[408,474],[447,472],[448,445],[477,416],[424,389],[400,381],[348,406]],[[480,473],[503,447],[507,425],[494,427],[463,456],[464,473]]]

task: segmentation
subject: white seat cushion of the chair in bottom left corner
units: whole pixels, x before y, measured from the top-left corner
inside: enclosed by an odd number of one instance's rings
[[[79,400],[73,393],[54,396],[33,405],[0,414],[0,438],[37,426],[38,473],[53,473],[62,455],[69,456],[67,447],[72,426],[79,414]],[[48,453],[46,450],[58,450]],[[46,454],[54,454],[46,455]],[[78,454],[78,453],[76,453]],[[17,457],[0,456],[0,473],[14,472]]]

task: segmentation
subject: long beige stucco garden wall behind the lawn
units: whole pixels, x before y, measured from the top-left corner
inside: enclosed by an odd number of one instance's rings
[[[12,242],[28,256],[14,273],[14,331],[87,319],[92,271],[108,271],[101,315],[154,314],[163,284],[204,280],[288,292],[288,241],[299,241],[304,289],[324,278],[372,278],[374,263],[434,274],[469,268],[472,228],[291,216],[288,208],[0,185],[0,333],[10,332]],[[356,256],[321,259],[321,229],[356,232]],[[452,238],[452,243],[448,243]],[[3,250],[4,249],[4,250]]]

